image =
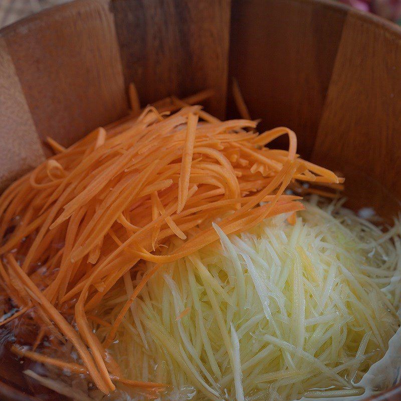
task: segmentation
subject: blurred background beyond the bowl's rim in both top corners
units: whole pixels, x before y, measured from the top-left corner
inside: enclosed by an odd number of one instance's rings
[[[0,28],[40,10],[71,0],[0,0]],[[197,1],[197,0],[193,0]],[[243,0],[247,1],[247,0]],[[269,0],[267,0],[269,1]],[[401,25],[401,0],[337,0]]]

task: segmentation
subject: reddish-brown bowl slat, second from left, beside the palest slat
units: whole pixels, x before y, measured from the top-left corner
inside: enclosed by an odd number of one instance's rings
[[[1,31],[41,138],[69,145],[127,111],[106,2],[56,7]]]

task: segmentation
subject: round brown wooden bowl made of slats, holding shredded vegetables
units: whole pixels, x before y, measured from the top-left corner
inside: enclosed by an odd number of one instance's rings
[[[81,0],[4,28],[0,186],[46,136],[69,145],[124,116],[130,82],[142,105],[214,88],[208,110],[233,117],[232,77],[261,129],[291,127],[303,157],[345,174],[353,207],[398,210],[401,30],[324,0]],[[6,358],[0,398],[38,399]]]

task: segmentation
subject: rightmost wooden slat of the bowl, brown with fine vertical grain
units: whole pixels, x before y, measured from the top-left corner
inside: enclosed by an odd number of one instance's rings
[[[401,30],[351,12],[333,70],[313,159],[341,169],[358,206],[399,210]]]

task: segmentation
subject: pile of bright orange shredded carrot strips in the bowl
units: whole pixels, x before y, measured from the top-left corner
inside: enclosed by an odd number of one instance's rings
[[[56,154],[2,194],[0,285],[8,301],[0,306],[10,317],[0,324],[22,317],[40,328],[33,351],[15,346],[16,353],[86,372],[104,393],[122,381],[157,394],[163,384],[122,378],[106,349],[159,264],[216,241],[212,221],[226,234],[239,233],[303,209],[288,188],[342,182],[299,158],[290,129],[258,134],[255,121],[220,121],[190,105],[210,94],[168,98],[141,110],[131,86],[129,117],[69,148],[49,138]],[[288,135],[288,151],[266,147],[280,135]],[[172,241],[175,251],[166,254]],[[144,269],[140,260],[156,267],[133,289],[101,343],[93,327],[107,323],[96,317],[97,305],[118,280]],[[82,364],[34,352],[45,336],[56,345],[71,342]]]

